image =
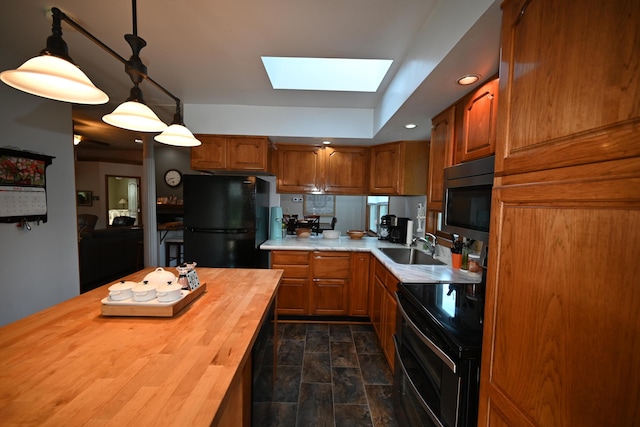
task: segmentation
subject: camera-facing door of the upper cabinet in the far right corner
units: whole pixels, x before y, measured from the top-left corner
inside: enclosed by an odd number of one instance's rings
[[[398,194],[399,155],[399,145],[397,143],[372,147],[369,172],[370,194]]]

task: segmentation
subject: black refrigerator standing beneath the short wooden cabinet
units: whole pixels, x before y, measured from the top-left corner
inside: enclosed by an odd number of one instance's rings
[[[269,183],[256,176],[184,176],[184,256],[198,267],[269,268]]]

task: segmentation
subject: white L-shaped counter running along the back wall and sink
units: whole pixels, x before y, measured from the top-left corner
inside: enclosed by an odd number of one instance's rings
[[[452,268],[450,257],[436,257],[436,259],[448,263],[448,265],[406,265],[392,261],[380,251],[380,248],[401,247],[404,246],[387,240],[379,240],[375,237],[364,237],[360,240],[354,240],[348,236],[340,236],[338,239],[325,239],[322,235],[308,238],[287,236],[282,240],[267,240],[260,245],[260,249],[269,251],[370,252],[403,283],[479,283],[482,280],[481,274],[468,273],[465,270]],[[442,250],[442,247],[440,249]]]

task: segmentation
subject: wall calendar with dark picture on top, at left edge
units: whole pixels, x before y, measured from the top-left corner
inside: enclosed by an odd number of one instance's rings
[[[52,160],[0,148],[0,222],[47,221],[46,168]]]

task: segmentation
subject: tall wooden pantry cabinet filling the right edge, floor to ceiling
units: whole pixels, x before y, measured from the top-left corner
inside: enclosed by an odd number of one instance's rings
[[[479,426],[640,425],[638,22],[503,3]]]

